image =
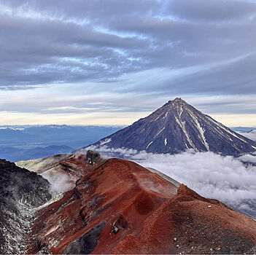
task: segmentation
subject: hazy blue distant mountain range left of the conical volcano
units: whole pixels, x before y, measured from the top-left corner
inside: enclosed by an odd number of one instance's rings
[[[69,153],[120,130],[119,126],[0,126],[0,158],[16,162]]]

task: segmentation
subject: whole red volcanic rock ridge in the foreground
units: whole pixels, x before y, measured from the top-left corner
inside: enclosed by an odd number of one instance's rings
[[[62,163],[72,165],[65,172],[74,173],[75,187],[38,211],[28,253],[253,252],[255,221],[183,184],[177,189],[127,160],[87,165],[70,158]]]

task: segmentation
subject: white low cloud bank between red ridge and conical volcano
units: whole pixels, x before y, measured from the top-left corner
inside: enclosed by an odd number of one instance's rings
[[[123,157],[160,170],[200,195],[220,200],[256,218],[256,166],[249,163],[256,162],[256,154],[235,158],[192,150],[171,155],[107,146],[89,149],[100,152],[103,157]]]

